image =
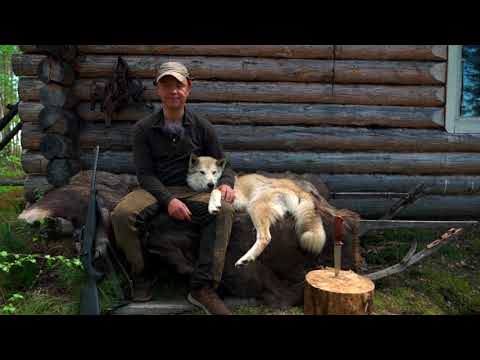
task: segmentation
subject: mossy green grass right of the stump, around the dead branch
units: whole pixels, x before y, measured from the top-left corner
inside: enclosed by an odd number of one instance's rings
[[[398,262],[409,244],[422,249],[442,232],[385,231],[368,236],[363,246],[368,264],[386,267]],[[431,257],[403,273],[376,282],[375,311],[395,314],[480,313],[480,233],[466,231],[463,241],[444,246]],[[402,248],[397,256],[398,248]],[[380,250],[379,250],[380,249]],[[383,263],[385,259],[389,261]]]

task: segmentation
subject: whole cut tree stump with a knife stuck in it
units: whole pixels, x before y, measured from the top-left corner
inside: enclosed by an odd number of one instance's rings
[[[372,312],[374,283],[353,271],[331,268],[310,271],[305,277],[305,315],[365,315]]]

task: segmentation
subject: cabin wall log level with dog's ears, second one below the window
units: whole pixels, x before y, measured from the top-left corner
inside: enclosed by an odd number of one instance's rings
[[[82,168],[93,166],[93,149],[80,155]],[[30,153],[28,153],[30,154]],[[32,154],[35,154],[33,152]],[[38,154],[35,154],[38,156]],[[22,156],[22,160],[25,156]],[[480,157],[474,153],[329,153],[236,151],[227,152],[236,171],[331,174],[478,175]],[[24,167],[25,168],[25,167]],[[105,151],[98,169],[134,174],[131,152]],[[27,173],[36,171],[29,171]]]

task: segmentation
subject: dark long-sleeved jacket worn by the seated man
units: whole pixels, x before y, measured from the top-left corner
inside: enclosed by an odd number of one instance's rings
[[[190,154],[225,158],[215,129],[208,120],[185,108],[183,126],[185,135],[169,135],[163,131],[165,123],[160,109],[138,121],[133,129],[133,155],[140,186],[155,196],[161,207],[167,207],[174,196],[166,186],[187,186]],[[217,185],[233,188],[235,173],[229,161]]]

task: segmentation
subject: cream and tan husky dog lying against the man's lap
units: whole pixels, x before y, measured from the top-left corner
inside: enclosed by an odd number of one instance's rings
[[[187,184],[195,191],[211,191],[208,204],[210,214],[221,208],[221,193],[216,189],[218,179],[225,168],[225,159],[209,156],[190,156]],[[255,244],[235,266],[245,265],[263,252],[271,241],[270,226],[284,217],[293,215],[300,246],[319,254],[325,244],[322,219],[315,212],[313,196],[290,179],[274,179],[259,174],[235,177],[233,207],[247,211],[257,232]]]

